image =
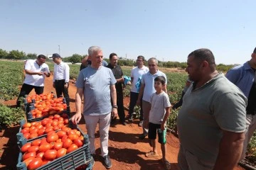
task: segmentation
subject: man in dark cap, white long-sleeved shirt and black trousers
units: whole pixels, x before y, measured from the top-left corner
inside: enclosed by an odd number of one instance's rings
[[[69,111],[70,97],[68,95],[68,82],[70,79],[70,67],[67,63],[62,61],[62,58],[57,53],[53,54],[54,74],[53,74],[53,88],[55,88],[57,97],[63,94],[67,102],[67,110]]]

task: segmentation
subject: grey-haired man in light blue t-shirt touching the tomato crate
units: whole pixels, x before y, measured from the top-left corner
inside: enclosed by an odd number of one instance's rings
[[[75,84],[77,86],[76,113],[73,115],[72,121],[78,124],[82,118],[81,101],[82,95],[84,95],[83,115],[90,140],[90,152],[92,155],[95,154],[95,129],[99,123],[101,154],[105,167],[110,169],[112,163],[108,155],[108,135],[111,115],[117,117],[117,94],[114,86],[117,81],[111,69],[102,67],[103,54],[100,47],[90,47],[88,54],[92,64],[82,69],[78,75]],[[113,108],[110,103],[110,94]]]

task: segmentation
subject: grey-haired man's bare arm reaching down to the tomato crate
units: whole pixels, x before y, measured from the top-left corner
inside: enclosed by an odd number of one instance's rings
[[[72,122],[75,125],[77,125],[79,123],[80,119],[82,118],[82,112],[81,112],[82,94],[83,94],[83,89],[82,88],[77,88],[77,92],[75,94],[76,113],[71,118]]]

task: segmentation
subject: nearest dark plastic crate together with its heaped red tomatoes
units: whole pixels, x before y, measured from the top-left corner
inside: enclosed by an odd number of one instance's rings
[[[46,137],[19,140],[18,170],[75,169],[90,164],[89,139],[78,127],[50,131]]]

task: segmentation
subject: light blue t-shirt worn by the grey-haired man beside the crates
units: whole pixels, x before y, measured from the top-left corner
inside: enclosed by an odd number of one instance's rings
[[[111,69],[90,65],[82,69],[75,86],[84,89],[84,115],[106,115],[111,113],[110,85],[116,83]]]

